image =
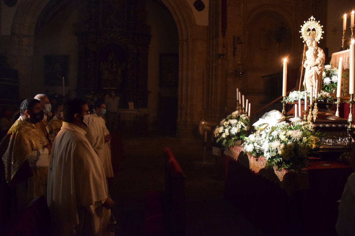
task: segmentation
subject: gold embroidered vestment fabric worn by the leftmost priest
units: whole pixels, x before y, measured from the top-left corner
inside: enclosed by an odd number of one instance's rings
[[[2,156],[5,166],[5,178],[8,184],[23,165],[33,150],[43,148],[48,139],[43,131],[24,120],[17,120],[7,137],[1,142],[1,150],[6,150]],[[28,179],[28,198],[47,194],[48,168],[32,170],[33,176]]]

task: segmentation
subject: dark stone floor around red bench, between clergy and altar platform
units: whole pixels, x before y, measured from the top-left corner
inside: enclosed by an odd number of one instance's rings
[[[217,171],[211,151],[206,155],[211,164],[201,165],[201,140],[159,135],[123,138],[123,170],[115,173],[110,188],[120,225],[116,235],[144,235],[145,193],[164,191],[163,148],[168,146],[186,175],[186,235],[263,236],[233,204],[223,199],[224,182],[214,178]]]

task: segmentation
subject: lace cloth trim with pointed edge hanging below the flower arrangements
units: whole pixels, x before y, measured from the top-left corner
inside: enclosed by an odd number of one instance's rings
[[[240,145],[232,146],[224,151],[224,154],[251,169],[254,173],[260,174],[264,178],[280,184],[280,188],[284,189],[288,195],[291,195],[292,192],[309,188],[307,168],[302,168],[301,171],[288,171],[285,169],[277,171],[275,168],[265,169],[265,157],[261,157],[256,161],[257,159],[255,157],[244,153]]]

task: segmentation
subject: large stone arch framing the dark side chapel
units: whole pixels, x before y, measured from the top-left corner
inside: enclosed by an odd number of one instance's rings
[[[13,68],[19,70],[21,97],[31,97],[33,37],[37,19],[50,0],[22,0],[12,22],[11,43],[7,55]],[[195,72],[194,44],[197,25],[186,0],[162,0],[173,15],[179,32],[179,100],[178,136],[192,129],[193,88]]]

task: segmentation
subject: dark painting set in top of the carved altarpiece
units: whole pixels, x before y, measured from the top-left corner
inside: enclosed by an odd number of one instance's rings
[[[101,0],[100,8],[100,29],[125,29],[125,1]]]

